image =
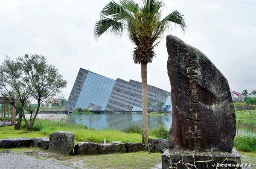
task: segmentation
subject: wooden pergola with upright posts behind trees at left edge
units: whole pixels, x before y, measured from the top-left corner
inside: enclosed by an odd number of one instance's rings
[[[2,118],[1,122],[3,122],[3,126],[6,126],[6,115],[7,115],[7,121],[10,122],[11,118],[11,124],[15,124],[15,117],[16,117],[16,109],[13,105],[8,104],[6,99],[4,97],[0,97],[0,104],[2,104]],[[15,101],[15,105],[17,102]],[[12,108],[11,108],[12,107]],[[12,111],[11,116],[10,116],[10,110]],[[8,114],[6,114],[8,111]]]

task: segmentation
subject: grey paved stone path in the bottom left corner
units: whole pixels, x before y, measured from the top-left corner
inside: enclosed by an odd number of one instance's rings
[[[43,161],[12,151],[0,151],[0,169],[73,169],[52,161]]]

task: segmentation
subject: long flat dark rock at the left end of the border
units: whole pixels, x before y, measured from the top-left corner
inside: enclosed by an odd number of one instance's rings
[[[0,139],[0,148],[30,147],[32,142],[30,138],[4,138]]]

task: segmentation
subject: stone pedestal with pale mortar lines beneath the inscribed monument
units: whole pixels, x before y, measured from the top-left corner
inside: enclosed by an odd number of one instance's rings
[[[162,154],[163,169],[241,169],[241,158],[232,152],[169,151]]]

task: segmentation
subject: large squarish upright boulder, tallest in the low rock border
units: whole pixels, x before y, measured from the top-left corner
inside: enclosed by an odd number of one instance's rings
[[[49,151],[63,155],[72,155],[74,148],[74,133],[53,132],[49,135]]]

